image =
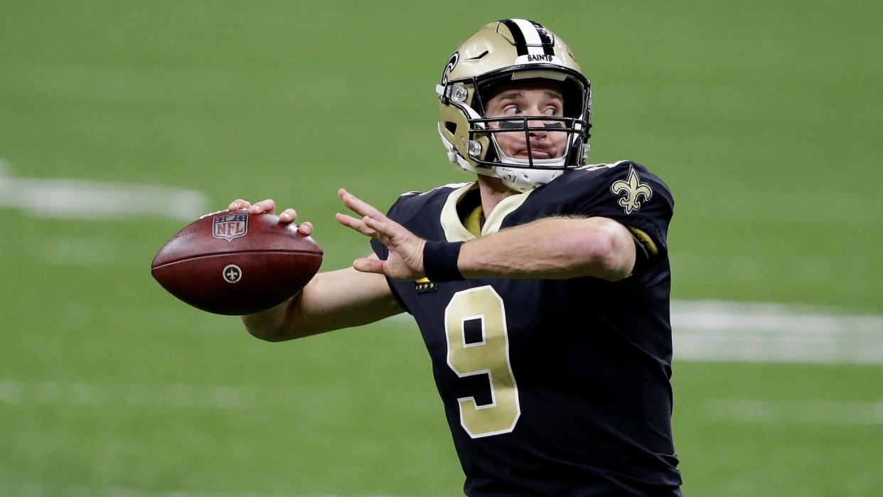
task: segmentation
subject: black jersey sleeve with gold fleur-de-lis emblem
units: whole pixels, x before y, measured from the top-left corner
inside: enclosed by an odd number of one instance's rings
[[[667,184],[636,162],[596,166],[586,172],[574,214],[620,222],[647,258],[668,252],[668,223],[675,200]]]

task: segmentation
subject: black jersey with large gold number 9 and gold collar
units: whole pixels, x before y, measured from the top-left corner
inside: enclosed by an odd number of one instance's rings
[[[406,193],[389,217],[429,240],[471,239],[457,200],[472,187]],[[466,494],[680,495],[669,384],[673,206],[668,187],[637,163],[572,170],[502,200],[482,235],[550,216],[608,217],[639,241],[632,276],[389,280],[432,357]]]

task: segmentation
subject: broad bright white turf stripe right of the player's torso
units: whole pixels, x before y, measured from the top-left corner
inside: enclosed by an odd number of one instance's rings
[[[394,320],[413,323],[410,314]],[[675,300],[675,361],[883,364],[883,316],[801,305]]]

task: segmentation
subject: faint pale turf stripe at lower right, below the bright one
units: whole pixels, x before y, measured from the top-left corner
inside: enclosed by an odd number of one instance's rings
[[[707,418],[740,423],[883,425],[883,402],[766,401],[716,399],[703,406]]]

